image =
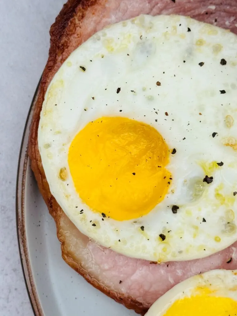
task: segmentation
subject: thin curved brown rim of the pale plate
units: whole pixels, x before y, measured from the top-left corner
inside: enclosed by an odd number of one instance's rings
[[[26,170],[28,162],[28,137],[30,132],[30,125],[33,116],[33,111],[37,96],[39,93],[39,87],[42,76],[38,82],[36,90],[33,95],[33,99],[27,114],[26,123],[24,126],[24,131],[21,139],[21,147],[18,158],[18,167],[17,167],[17,177],[16,177],[16,200],[15,200],[15,212],[16,212],[16,234],[18,240],[18,250],[20,254],[21,269],[23,272],[24,282],[27,289],[27,294],[29,301],[32,307],[34,316],[44,316],[43,309],[40,304],[40,299],[37,294],[36,284],[34,282],[33,273],[31,269],[29,253],[28,253],[28,244],[27,244],[27,235],[26,235],[26,225],[25,225],[25,179],[26,179]]]

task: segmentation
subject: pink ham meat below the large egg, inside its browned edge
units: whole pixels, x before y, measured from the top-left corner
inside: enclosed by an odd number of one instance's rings
[[[206,258],[155,264],[99,246],[82,235],[66,216],[61,228],[67,235],[64,246],[83,269],[114,292],[131,296],[144,310],[190,276],[213,269],[237,269],[237,242]]]

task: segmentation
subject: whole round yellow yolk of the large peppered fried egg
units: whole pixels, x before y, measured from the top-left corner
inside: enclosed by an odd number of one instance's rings
[[[154,127],[123,117],[88,123],[68,154],[82,201],[118,221],[143,216],[164,199],[172,180],[168,161],[167,144]]]

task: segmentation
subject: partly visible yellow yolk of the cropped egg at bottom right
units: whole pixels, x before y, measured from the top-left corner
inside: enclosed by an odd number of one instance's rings
[[[175,301],[163,316],[234,316],[237,301],[229,297],[197,295]]]

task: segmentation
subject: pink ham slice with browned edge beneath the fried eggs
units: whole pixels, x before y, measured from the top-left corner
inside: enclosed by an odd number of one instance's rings
[[[237,242],[207,258],[161,264],[103,248],[78,231],[51,195],[37,142],[46,89],[65,59],[106,25],[140,14],[189,15],[237,34],[235,0],[69,0],[50,29],[51,47],[34,106],[28,154],[40,192],[55,219],[64,260],[106,295],[144,314],[167,290],[190,276],[212,269],[237,269]]]

